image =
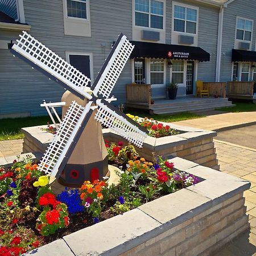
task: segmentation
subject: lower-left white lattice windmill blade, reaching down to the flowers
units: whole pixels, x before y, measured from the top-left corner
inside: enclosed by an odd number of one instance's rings
[[[60,175],[62,170],[59,167],[63,162],[67,162],[69,158],[67,152],[71,146],[75,145],[74,139],[76,134],[82,130],[82,123],[88,115],[91,105],[92,101],[89,101],[85,108],[77,104],[76,101],[72,102],[53,141],[44,153],[38,170],[51,174],[53,177]]]

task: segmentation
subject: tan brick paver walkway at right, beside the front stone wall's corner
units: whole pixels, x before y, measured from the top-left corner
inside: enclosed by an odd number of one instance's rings
[[[220,250],[216,256],[256,255],[256,150],[227,142],[214,141],[220,170],[249,180],[245,205],[251,229]]]

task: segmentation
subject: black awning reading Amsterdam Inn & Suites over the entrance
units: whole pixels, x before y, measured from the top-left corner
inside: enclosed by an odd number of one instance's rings
[[[210,53],[200,47],[177,46],[176,44],[158,44],[131,41],[134,44],[130,59],[134,58],[154,58],[172,60],[199,60],[209,61]]]

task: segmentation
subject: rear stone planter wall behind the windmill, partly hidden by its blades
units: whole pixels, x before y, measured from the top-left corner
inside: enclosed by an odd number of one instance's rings
[[[170,125],[170,123],[164,123],[164,125],[167,124]],[[26,127],[22,129],[25,135],[23,152],[44,152],[46,150],[53,139],[53,134],[43,131],[42,127],[46,128],[47,126]],[[215,131],[174,124],[171,124],[171,127],[180,131],[180,134],[163,138],[148,136],[143,143],[143,148],[135,147],[139,155],[147,160],[153,160],[152,152],[155,155],[164,155],[164,158],[179,156],[203,166],[220,170],[213,143],[213,137],[217,135]],[[123,141],[127,144],[125,139],[113,133],[110,129],[103,129],[102,132],[105,140],[112,142]]]

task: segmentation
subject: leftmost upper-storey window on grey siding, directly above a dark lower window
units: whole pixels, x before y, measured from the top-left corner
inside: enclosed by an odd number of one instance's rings
[[[86,19],[86,0],[67,0],[68,17]]]

